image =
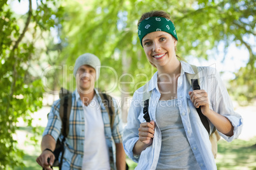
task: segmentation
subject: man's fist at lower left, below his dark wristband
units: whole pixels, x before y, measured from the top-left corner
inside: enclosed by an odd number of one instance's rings
[[[50,161],[48,161],[50,159]],[[43,167],[47,170],[52,170],[49,166],[52,166],[54,162],[55,156],[50,152],[50,150],[44,150],[41,155],[36,159],[36,162],[38,162],[39,166]]]

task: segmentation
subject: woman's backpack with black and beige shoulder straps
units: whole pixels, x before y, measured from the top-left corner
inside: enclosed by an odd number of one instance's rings
[[[191,67],[194,70],[194,74],[187,74],[186,73],[187,80],[190,83],[190,85],[192,86],[193,90],[200,89],[198,69],[195,65],[191,65]],[[149,100],[150,100],[150,96],[152,94],[152,91],[149,91],[147,93],[147,88],[148,88],[148,84],[146,84],[144,86],[144,89],[143,89],[143,101],[144,101],[144,108],[143,108],[144,116],[143,117],[146,120],[146,122],[150,122],[150,117],[149,117],[149,114],[148,114],[148,105],[149,105]],[[205,115],[203,115],[203,113],[201,112],[200,107],[196,108],[196,110],[197,110],[197,113],[199,114],[201,122],[204,125],[204,128],[206,128],[206,130],[208,131],[209,138],[210,138],[210,141],[211,141],[211,152],[213,152],[213,156],[214,156],[214,158],[216,158],[217,157],[217,152],[218,152],[217,141],[220,140],[220,135],[216,131],[215,127],[213,128],[213,131],[210,133],[210,124],[209,124],[209,121],[208,121],[207,117]]]

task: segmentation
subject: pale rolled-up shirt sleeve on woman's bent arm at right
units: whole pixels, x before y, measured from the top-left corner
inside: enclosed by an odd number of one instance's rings
[[[218,72],[211,68],[208,70],[208,86],[210,87],[210,103],[212,104],[213,110],[218,114],[221,114],[229,121],[231,121],[232,126],[234,126],[233,136],[226,136],[223,133],[218,133],[226,141],[231,142],[235,138],[238,138],[241,134],[243,128],[243,118],[238,113],[234,112],[234,107],[232,105],[231,98],[225,88],[224,82],[220,78]]]

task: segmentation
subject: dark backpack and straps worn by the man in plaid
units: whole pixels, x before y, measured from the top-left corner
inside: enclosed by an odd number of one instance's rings
[[[104,103],[104,107],[106,107],[106,111],[108,112],[108,116],[110,118],[110,126],[112,129],[115,121],[115,114],[114,114],[115,108],[113,107],[113,103],[112,103],[113,99],[111,98],[110,95],[107,95],[106,93],[99,92],[99,95],[101,96],[101,100]],[[64,138],[62,139],[62,141],[60,141],[59,138],[56,141],[55,150],[53,152],[55,156],[53,167],[59,166],[59,169],[61,170],[62,160],[64,155],[64,142],[69,133],[69,115],[71,113],[71,107],[72,107],[72,93],[67,89],[61,88],[59,93],[59,98],[60,98],[59,114],[60,114],[60,119],[62,121],[61,133],[63,134]],[[62,153],[62,155],[59,162],[60,152]]]

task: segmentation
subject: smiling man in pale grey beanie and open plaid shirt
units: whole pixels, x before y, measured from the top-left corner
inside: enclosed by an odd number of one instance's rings
[[[76,59],[73,71],[76,90],[72,94],[69,134],[64,145],[62,169],[125,169],[122,119],[117,102],[113,100],[116,109],[111,129],[108,112],[101,102],[99,92],[94,88],[100,66],[99,58],[90,53]],[[57,100],[48,115],[48,124],[41,141],[42,153],[36,159],[45,169],[51,169],[49,166],[52,166],[55,159],[52,153],[55,143],[57,138],[63,138],[59,108],[60,100]]]

